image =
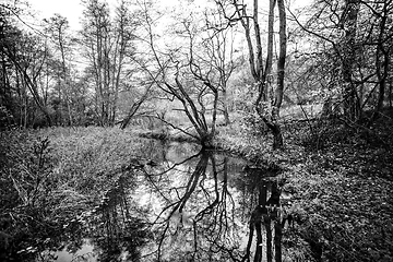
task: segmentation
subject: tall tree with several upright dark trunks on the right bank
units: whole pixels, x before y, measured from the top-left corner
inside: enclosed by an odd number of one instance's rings
[[[277,85],[269,99],[269,88],[273,87],[272,83],[272,64],[273,64],[273,35],[274,35],[274,9],[276,0],[270,1],[269,21],[267,21],[267,51],[266,58],[263,59],[262,34],[259,21],[258,0],[253,1],[252,14],[249,14],[247,4],[238,0],[217,0],[215,1],[225,13],[228,23],[240,22],[249,51],[249,66],[254,85],[258,90],[254,108],[263,122],[273,133],[273,148],[281,148],[284,145],[283,134],[278,123],[279,107],[284,94],[284,75],[285,75],[285,58],[286,58],[286,11],[284,1],[278,3],[279,17],[279,58],[277,62]]]

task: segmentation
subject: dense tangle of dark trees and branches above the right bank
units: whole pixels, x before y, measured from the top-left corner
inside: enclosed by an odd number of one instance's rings
[[[311,87],[319,97],[309,102],[322,100],[325,112],[371,126],[392,107],[392,1],[347,0],[315,1],[307,23],[294,15],[308,36],[297,41],[307,50],[297,50],[294,63],[302,73],[294,85]]]

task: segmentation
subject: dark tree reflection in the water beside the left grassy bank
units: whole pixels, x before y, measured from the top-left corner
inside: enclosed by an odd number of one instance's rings
[[[129,175],[129,172],[126,172]],[[139,248],[148,239],[146,225],[128,199],[133,180],[121,176],[91,215],[92,243],[98,261],[138,261]]]

